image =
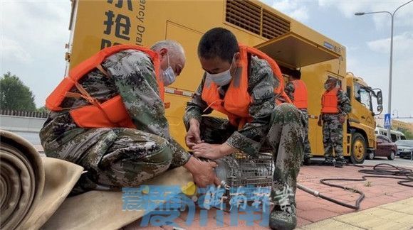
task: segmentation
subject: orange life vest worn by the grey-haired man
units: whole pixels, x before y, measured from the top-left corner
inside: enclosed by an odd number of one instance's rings
[[[150,49],[140,47],[138,45],[115,45],[109,48],[100,50],[98,53],[89,57],[87,60],[81,62],[79,65],[70,70],[69,75],[58,84],[58,87],[46,99],[46,107],[51,111],[62,111],[63,109],[70,109],[70,116],[72,116],[75,123],[82,128],[103,128],[103,127],[126,127],[136,128],[133,124],[130,115],[128,114],[125,105],[122,102],[120,95],[108,99],[106,102],[100,103],[86,92],[86,90],[79,84],[79,80],[87,75],[90,71],[98,68],[107,77],[108,73],[103,70],[100,63],[122,50],[139,50],[150,56],[155,65],[155,74],[157,84],[160,91],[160,97],[164,100],[164,84],[160,76],[160,58],[159,55]],[[76,87],[80,94],[70,92],[70,89]],[[90,105],[81,106],[79,108],[62,108],[61,104],[66,97],[84,98]]]

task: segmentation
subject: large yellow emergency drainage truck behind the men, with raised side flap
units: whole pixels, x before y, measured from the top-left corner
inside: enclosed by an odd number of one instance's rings
[[[260,1],[72,0],[67,70],[111,45],[150,46],[163,39],[182,43],[187,64],[177,81],[165,89],[165,97],[171,103],[166,110],[170,131],[184,146],[184,107],[203,74],[197,45],[202,34],[216,26],[229,29],[239,42],[273,57],[286,80],[291,70],[300,68],[308,87],[309,139],[314,156],[323,155],[323,133],[317,120],[328,77],[340,80],[352,103],[344,125],[344,155],[352,163],[362,163],[367,150],[375,149],[372,97],[377,98],[377,109],[381,110],[380,89],[373,90],[361,78],[346,74],[343,45]]]

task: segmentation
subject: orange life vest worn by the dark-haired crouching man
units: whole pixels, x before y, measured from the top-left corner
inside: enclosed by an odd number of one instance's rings
[[[249,55],[256,55],[258,58],[268,62],[273,70],[274,77],[277,77],[280,82],[278,87],[274,89],[274,93],[278,94],[286,102],[291,103],[291,100],[288,98],[286,92],[284,92],[283,75],[275,60],[268,57],[268,55],[262,53],[260,50],[241,44],[239,45],[239,54],[241,58],[238,63],[238,68],[241,69],[241,74],[232,78],[224,99],[220,99],[218,86],[210,80],[204,84],[204,89],[202,89],[202,99],[212,109],[226,114],[229,122],[233,126],[242,128],[246,122],[252,121],[252,117],[249,114],[249,105],[252,102],[248,92]],[[276,102],[277,104],[281,104],[281,101],[279,100],[276,100]]]

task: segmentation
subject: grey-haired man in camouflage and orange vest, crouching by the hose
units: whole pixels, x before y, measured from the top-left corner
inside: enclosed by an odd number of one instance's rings
[[[74,192],[137,187],[182,165],[197,185],[214,183],[216,165],[190,157],[169,136],[164,85],[184,64],[182,46],[164,40],[151,49],[105,48],[70,70],[46,101],[51,114],[40,137],[48,157],[87,170]]]

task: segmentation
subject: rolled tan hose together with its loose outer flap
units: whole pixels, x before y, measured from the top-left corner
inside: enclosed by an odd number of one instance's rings
[[[82,171],[65,160],[41,157],[25,139],[0,130],[0,229],[39,229]]]

